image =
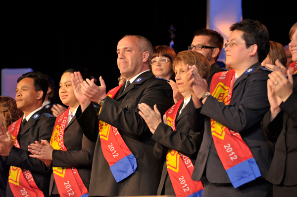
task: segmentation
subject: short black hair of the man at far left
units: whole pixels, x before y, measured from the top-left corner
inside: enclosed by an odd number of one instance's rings
[[[33,83],[34,89],[35,91],[43,91],[42,102],[44,102],[49,89],[48,79],[45,76],[43,76],[41,73],[32,71],[32,72],[23,74],[21,77],[17,79],[17,82],[20,82],[20,80],[25,78],[34,79],[34,83]]]

